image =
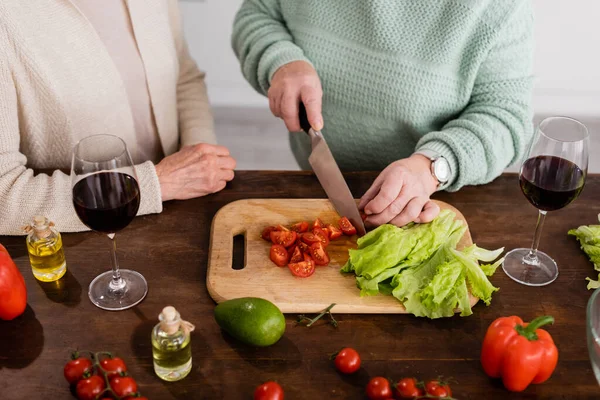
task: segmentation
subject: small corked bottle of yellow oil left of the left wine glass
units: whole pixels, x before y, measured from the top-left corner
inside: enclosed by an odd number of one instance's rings
[[[48,218],[35,216],[25,227],[31,271],[37,280],[54,282],[67,272],[60,233]]]

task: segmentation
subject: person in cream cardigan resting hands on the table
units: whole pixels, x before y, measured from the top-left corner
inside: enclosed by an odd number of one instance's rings
[[[138,214],[233,179],[177,0],[2,0],[0,235],[20,234],[36,214],[64,232],[86,230],[64,171],[73,146],[102,133],[130,149]]]

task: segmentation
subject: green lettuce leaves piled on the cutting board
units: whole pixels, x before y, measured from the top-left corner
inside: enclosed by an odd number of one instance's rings
[[[489,305],[498,290],[491,276],[502,259],[492,262],[504,249],[486,250],[476,245],[462,251],[456,246],[467,227],[443,210],[428,224],[403,228],[383,225],[358,240],[358,248],[342,269],[354,272],[361,296],[393,295],[416,316],[440,318],[472,314],[470,292]]]

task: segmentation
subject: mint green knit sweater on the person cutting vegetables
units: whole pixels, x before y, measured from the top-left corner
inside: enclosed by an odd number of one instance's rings
[[[496,178],[532,134],[530,0],[245,0],[232,45],[263,94],[282,65],[312,63],[343,170],[431,149],[458,190]],[[290,141],[308,167],[306,135]]]

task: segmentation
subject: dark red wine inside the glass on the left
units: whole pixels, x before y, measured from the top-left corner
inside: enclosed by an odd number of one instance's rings
[[[140,207],[140,187],[121,172],[88,175],[73,187],[73,205],[81,222],[103,233],[125,228]]]

